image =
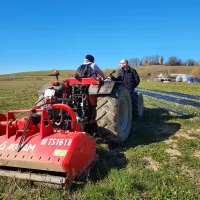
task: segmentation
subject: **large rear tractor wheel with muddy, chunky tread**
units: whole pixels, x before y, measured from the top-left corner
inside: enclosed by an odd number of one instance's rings
[[[132,101],[123,85],[116,85],[109,96],[97,100],[97,125],[99,133],[110,142],[125,142],[132,123]]]

